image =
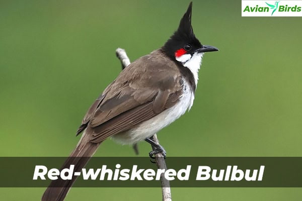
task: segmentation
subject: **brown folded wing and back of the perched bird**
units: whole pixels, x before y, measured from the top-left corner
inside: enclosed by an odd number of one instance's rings
[[[89,127],[92,142],[129,130],[177,103],[181,73],[173,61],[155,54],[131,63],[89,109],[79,131]],[[142,68],[146,63],[152,66]]]

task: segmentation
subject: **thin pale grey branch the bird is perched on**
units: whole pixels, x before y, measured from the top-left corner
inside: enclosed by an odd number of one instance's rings
[[[122,69],[124,69],[130,64],[130,60],[126,54],[126,51],[124,49],[117,48],[115,52],[116,52],[116,56],[121,61]],[[153,140],[157,144],[160,144],[156,134],[153,135]],[[137,146],[134,145],[133,148],[134,151],[138,154]],[[156,148],[152,146],[152,149],[155,150]],[[162,153],[158,153],[155,155],[155,161],[159,169],[167,169],[166,161]],[[170,182],[165,178],[164,173],[161,174],[161,184],[162,184],[163,201],[172,201]]]

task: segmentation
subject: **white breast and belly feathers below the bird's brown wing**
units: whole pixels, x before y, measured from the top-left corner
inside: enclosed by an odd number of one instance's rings
[[[187,81],[184,80],[183,94],[176,105],[165,110],[156,117],[139,124],[136,128],[112,136],[112,139],[121,144],[134,144],[151,137],[177,120],[186,112],[186,110],[190,110],[193,105],[193,100],[194,93]]]

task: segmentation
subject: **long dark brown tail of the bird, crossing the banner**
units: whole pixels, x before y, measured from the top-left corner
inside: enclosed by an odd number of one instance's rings
[[[82,138],[78,143],[77,147],[70,154],[68,159],[65,161],[63,168],[69,168],[70,165],[74,165],[74,172],[81,171],[85,167],[89,159],[94,155],[100,143],[90,142],[90,137],[86,131],[82,134]],[[45,190],[42,201],[61,201],[64,200],[70,187],[74,183],[77,176],[72,176],[71,180],[52,180],[50,185]],[[58,187],[59,186],[59,187]],[[61,187],[62,186],[62,187]]]

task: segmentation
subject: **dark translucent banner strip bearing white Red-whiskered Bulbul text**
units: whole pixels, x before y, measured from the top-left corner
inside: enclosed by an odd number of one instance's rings
[[[46,187],[74,175],[73,187],[160,187],[161,174],[171,187],[302,187],[302,157],[168,157],[166,170],[147,157],[93,157],[81,170],[76,162],[61,168],[65,160],[0,157],[0,187]]]

